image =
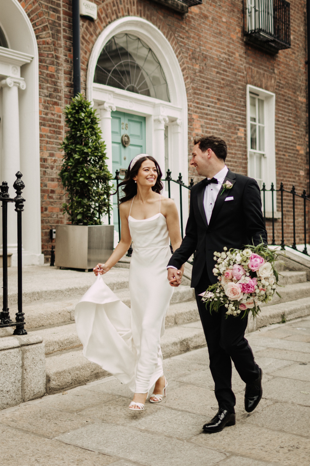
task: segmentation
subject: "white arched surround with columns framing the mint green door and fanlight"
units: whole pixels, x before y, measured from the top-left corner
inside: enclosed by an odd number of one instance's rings
[[[102,48],[115,34],[120,33],[136,35],[153,50],[165,73],[171,98],[170,103],[93,82],[95,68]],[[181,172],[183,180],[187,184],[188,115],[185,82],[170,42],[156,26],[143,18],[126,16],[113,21],[105,27],[95,42],[89,58],[86,97],[100,111],[101,129],[107,146],[107,155],[110,159],[110,170],[112,170],[112,144],[109,135],[109,132],[111,132],[111,110],[116,109],[146,117],[146,152],[157,158],[161,167],[163,167],[164,157],[164,129],[165,125],[168,125],[169,168],[173,179],[177,179],[179,172]],[[160,143],[158,144],[159,140]],[[172,191],[172,197],[175,199],[177,206],[179,204],[178,189],[178,186],[175,185]],[[185,222],[188,212],[188,198],[185,193],[183,194],[183,212],[183,221]]]

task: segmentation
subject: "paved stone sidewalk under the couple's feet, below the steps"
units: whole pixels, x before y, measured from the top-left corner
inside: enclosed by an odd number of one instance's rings
[[[207,349],[164,361],[163,403],[128,410],[114,377],[0,411],[3,466],[310,466],[310,317],[249,334],[263,399],[244,411],[233,369],[237,424],[207,434],[216,411]]]

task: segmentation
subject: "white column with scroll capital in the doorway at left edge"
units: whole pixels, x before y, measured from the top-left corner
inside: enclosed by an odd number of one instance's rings
[[[20,115],[18,89],[26,89],[22,78],[7,77],[0,82],[3,104],[2,180],[7,181],[10,197],[15,197],[13,183],[20,170]],[[7,209],[7,246],[10,252],[17,249],[17,217],[13,206]]]

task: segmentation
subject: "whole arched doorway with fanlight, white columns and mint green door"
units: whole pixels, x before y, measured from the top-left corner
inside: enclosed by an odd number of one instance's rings
[[[116,119],[123,115],[121,138],[128,131],[126,119],[136,116],[142,119],[140,128],[145,125],[145,140],[141,140],[141,146],[146,153],[158,160],[163,172],[169,168],[173,178],[178,178],[181,172],[187,180],[185,83],[178,59],[157,27],[142,18],[127,16],[113,21],[102,31],[89,59],[87,98],[99,110],[112,173],[113,151],[115,160],[115,144],[119,144]],[[123,165],[127,168],[135,155],[133,148],[127,153],[120,168]],[[171,195],[178,205],[177,188]],[[184,199],[183,209],[184,212],[188,209],[187,199]]]

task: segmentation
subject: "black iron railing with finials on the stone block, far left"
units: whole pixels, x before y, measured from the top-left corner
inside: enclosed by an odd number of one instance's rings
[[[3,265],[3,308],[0,313],[0,328],[16,327],[13,335],[26,335],[24,328],[24,313],[23,313],[23,295],[22,295],[22,240],[21,240],[21,212],[24,211],[25,199],[22,197],[22,191],[25,188],[24,182],[21,180],[23,176],[20,171],[16,173],[16,181],[13,188],[16,191],[15,198],[10,198],[8,193],[8,185],[3,181],[0,186],[0,201],[2,201],[2,265]],[[7,205],[10,202],[15,203],[15,212],[17,212],[17,307],[15,322],[11,320],[7,302]]]

